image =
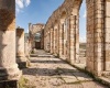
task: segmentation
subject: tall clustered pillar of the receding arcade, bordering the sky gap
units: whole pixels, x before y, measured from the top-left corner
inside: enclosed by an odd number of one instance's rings
[[[79,62],[79,23],[78,15],[72,14],[69,16],[69,29],[68,29],[68,58],[70,64]]]

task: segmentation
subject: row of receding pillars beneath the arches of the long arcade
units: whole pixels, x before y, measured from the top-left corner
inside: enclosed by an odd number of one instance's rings
[[[79,16],[69,15],[68,18],[63,18],[59,23],[56,22],[46,34],[50,36],[50,52],[55,56],[68,61],[70,64],[78,62],[79,57]],[[47,40],[46,40],[47,41]],[[46,45],[46,44],[45,44]]]

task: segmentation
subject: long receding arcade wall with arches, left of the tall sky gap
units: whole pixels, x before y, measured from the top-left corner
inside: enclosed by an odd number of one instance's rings
[[[53,14],[50,16],[48,21],[45,25],[45,32],[46,34],[45,38],[45,50],[47,50],[47,32],[51,31],[51,53],[54,55],[58,55],[63,59],[68,59],[68,62],[76,62],[79,57],[79,8],[82,0],[65,0],[64,3],[53,12]],[[75,6],[75,7],[74,7]],[[69,16],[73,15],[72,19],[75,18],[73,21],[74,23],[69,23]],[[74,28],[73,28],[74,24]],[[52,30],[53,29],[53,30]],[[69,34],[69,29],[74,31]],[[68,38],[68,36],[72,37]],[[75,37],[73,37],[75,36]],[[73,43],[70,44],[70,42]],[[73,52],[70,52],[73,51]],[[75,52],[75,54],[74,54]],[[72,54],[70,54],[72,53]],[[73,54],[75,56],[73,56]],[[72,55],[72,56],[70,56]],[[72,59],[69,58],[72,57]]]

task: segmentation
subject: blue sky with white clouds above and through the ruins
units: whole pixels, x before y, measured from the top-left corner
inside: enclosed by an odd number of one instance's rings
[[[50,15],[64,0],[15,0],[16,1],[16,26],[21,26],[28,32],[29,23],[46,23]],[[85,2],[80,8],[80,41],[86,35],[86,7]]]

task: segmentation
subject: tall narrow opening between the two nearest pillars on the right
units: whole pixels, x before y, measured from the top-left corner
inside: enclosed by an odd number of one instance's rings
[[[86,44],[87,44],[87,30],[86,30],[86,0],[82,1],[79,10],[79,63],[86,66]]]

